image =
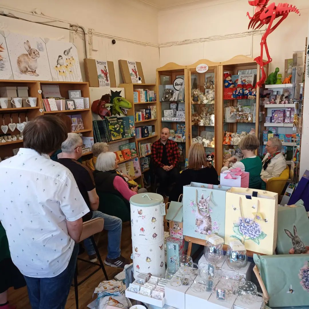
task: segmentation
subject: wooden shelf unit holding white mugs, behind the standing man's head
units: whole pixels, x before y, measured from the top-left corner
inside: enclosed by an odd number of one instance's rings
[[[21,108],[11,108],[11,103],[9,102],[10,108],[0,108],[0,116],[4,118],[5,125],[11,123],[11,118],[13,123],[19,123],[26,121],[26,116],[28,121],[34,119],[37,116],[42,116],[45,114],[57,114],[58,112],[64,112],[68,115],[80,114],[83,119],[84,129],[75,131],[75,133],[83,133],[85,137],[92,137],[92,117],[91,110],[86,109],[74,109],[74,110],[65,110],[65,111],[51,111],[44,112],[42,94],[39,93],[41,90],[41,85],[59,85],[60,93],[66,99],[69,99],[68,90],[81,90],[83,97],[90,97],[89,87],[87,82],[53,82],[53,81],[32,81],[32,80],[0,80],[0,87],[19,87],[25,86],[28,87],[28,96],[37,98],[36,107],[21,107]],[[3,121],[1,121],[3,125]],[[0,133],[3,133],[2,131]],[[7,134],[18,135],[20,132],[15,129],[13,132],[10,129],[7,131]],[[3,160],[4,157],[12,156],[13,149],[23,147],[23,140],[11,141],[0,143],[0,157]],[[91,155],[91,152],[83,154],[84,156]]]

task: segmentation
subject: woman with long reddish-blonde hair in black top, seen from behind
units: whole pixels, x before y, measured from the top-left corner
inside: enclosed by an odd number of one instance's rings
[[[202,144],[194,143],[190,146],[188,162],[188,168],[182,171],[176,180],[169,201],[178,201],[178,197],[183,193],[183,186],[191,182],[220,184],[217,171],[206,160],[205,149]]]

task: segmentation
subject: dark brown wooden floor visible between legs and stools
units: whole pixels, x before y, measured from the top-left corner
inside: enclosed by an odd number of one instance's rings
[[[96,237],[95,237],[96,239]],[[103,231],[99,238],[99,252],[102,260],[105,259],[107,255],[107,232]],[[123,223],[122,233],[121,233],[121,255],[129,259],[132,253],[132,242],[131,242],[131,225],[130,222]],[[79,257],[87,259],[87,253],[83,253]],[[86,277],[94,266],[88,265],[88,263],[78,261],[78,281]],[[114,268],[105,265],[105,269],[108,275],[108,279],[113,279],[117,273],[120,273],[123,269]],[[104,281],[104,274],[102,270],[96,272],[88,280],[83,282],[78,286],[78,298],[79,298],[79,308],[86,308],[89,303],[91,303],[92,294],[95,288],[99,285],[101,281]],[[9,289],[9,301],[11,305],[17,306],[17,309],[31,309],[27,287],[21,288],[19,290]],[[70,294],[66,303],[66,309],[75,308],[75,294],[74,287],[71,287]]]

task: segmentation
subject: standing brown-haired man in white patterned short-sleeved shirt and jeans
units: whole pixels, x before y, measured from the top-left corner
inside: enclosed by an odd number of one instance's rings
[[[72,173],[50,159],[66,138],[59,118],[39,116],[23,130],[24,148],[0,162],[0,187],[5,191],[0,219],[32,308],[65,307],[82,217],[89,212]]]

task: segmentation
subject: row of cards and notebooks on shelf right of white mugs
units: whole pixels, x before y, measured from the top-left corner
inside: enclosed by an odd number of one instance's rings
[[[89,108],[89,98],[72,100],[43,99],[43,106],[45,112],[85,109]]]

